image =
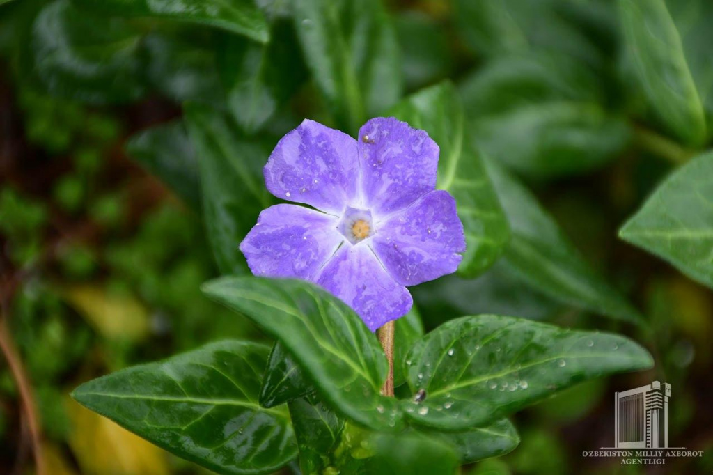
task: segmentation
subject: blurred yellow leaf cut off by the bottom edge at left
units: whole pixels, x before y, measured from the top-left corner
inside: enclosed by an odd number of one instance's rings
[[[167,454],[115,422],[66,401],[72,431],[69,446],[82,473],[101,475],[164,475]]]

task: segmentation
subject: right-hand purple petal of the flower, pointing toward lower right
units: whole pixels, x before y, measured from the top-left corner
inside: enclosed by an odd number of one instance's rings
[[[447,191],[431,191],[405,210],[376,223],[371,247],[391,277],[416,285],[456,272],[466,250],[456,200]]]

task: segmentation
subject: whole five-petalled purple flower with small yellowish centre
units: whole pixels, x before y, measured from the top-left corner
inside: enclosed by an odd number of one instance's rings
[[[409,312],[406,286],[455,272],[466,240],[456,201],[436,190],[426,132],[373,118],[359,138],[309,120],[287,133],[265,165],[267,189],[317,210],[263,210],[240,250],[253,274],[316,282],[374,331]]]

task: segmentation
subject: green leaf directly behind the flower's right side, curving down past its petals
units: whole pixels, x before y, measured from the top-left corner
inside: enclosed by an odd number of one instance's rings
[[[510,230],[480,155],[464,136],[463,109],[450,83],[424,89],[391,113],[424,129],[441,148],[436,188],[456,198],[466,233],[466,252],[458,272],[475,277],[500,257]]]

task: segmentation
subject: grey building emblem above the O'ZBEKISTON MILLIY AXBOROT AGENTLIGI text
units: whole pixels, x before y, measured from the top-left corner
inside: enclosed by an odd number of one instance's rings
[[[667,449],[671,385],[658,381],[614,393],[614,448]]]

